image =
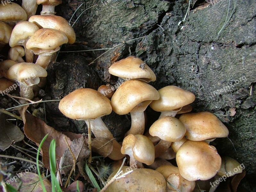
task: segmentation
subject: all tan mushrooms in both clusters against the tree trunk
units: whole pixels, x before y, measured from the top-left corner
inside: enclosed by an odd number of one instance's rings
[[[8,60],[0,63],[1,91],[13,84],[10,81],[17,81],[21,97],[33,99],[33,85],[47,76],[46,69],[60,45],[75,42],[73,28],[64,18],[55,16],[55,6],[60,3],[61,0],[31,0],[22,1],[22,7],[15,3],[0,4],[0,50],[5,44],[11,47]],[[37,4],[43,5],[41,15],[35,15]],[[107,86],[101,86],[98,91],[80,88],[59,103],[65,116],[86,122],[91,151],[92,132],[95,138],[104,139],[113,148],[108,153],[101,151],[100,155],[116,164],[124,156],[129,157],[129,169],[133,172],[115,180],[107,191],[160,192],[177,188],[190,192],[196,180],[226,174],[227,169],[223,166],[227,162],[209,142],[227,137],[228,129],[210,112],[190,112],[190,104],[195,100],[193,93],[173,85],[157,91],[148,84],[156,80],[156,75],[144,61],[134,56],[112,64],[109,73],[124,79],[114,94],[106,91]],[[106,92],[109,94],[102,94]],[[148,106],[161,115],[145,132]],[[101,120],[112,110],[131,116],[131,128],[122,144]],[[177,166],[167,161],[174,158]],[[237,165],[235,160],[230,161]],[[232,169],[230,164],[229,169]],[[127,172],[126,166],[123,171]]]

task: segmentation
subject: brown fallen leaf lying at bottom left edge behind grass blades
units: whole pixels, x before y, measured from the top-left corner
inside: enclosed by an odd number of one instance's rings
[[[41,182],[39,180],[38,174],[33,173],[33,172],[21,172],[21,173],[19,173],[19,175],[20,175],[20,180],[22,181],[21,187],[26,186],[24,188],[21,188],[20,192],[41,192],[42,191],[42,186],[41,186]],[[42,175],[42,178],[43,177],[44,176]],[[11,179],[9,181],[11,181]],[[50,181],[47,179],[43,179],[43,182],[44,182],[46,191],[52,191],[52,184],[50,183]],[[10,183],[10,185],[12,185],[15,188],[18,188],[19,181],[13,180]]]

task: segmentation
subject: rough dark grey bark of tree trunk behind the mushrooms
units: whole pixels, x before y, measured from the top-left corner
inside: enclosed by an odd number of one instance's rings
[[[256,191],[256,2],[215,2],[192,2],[189,15],[178,25],[188,8],[186,0],[63,0],[56,12],[66,20],[83,3],[71,25],[88,10],[73,26],[76,43],[63,45],[47,69],[44,99],[61,99],[80,87],[114,86],[120,79],[110,76],[109,66],[130,54],[138,56],[155,72],[157,80],[150,84],[156,89],[176,85],[194,93],[193,112],[212,112],[227,126],[228,138],[212,145],[221,156],[244,164],[243,187]],[[105,51],[71,52],[112,47],[104,55]],[[45,107],[48,125],[87,132],[83,121],[60,113],[58,102]],[[146,113],[149,127],[159,113],[150,108]],[[103,120],[118,140],[131,125],[129,115],[114,112]]]

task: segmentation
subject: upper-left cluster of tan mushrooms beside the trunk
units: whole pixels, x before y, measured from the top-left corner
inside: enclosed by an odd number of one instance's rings
[[[22,1],[22,7],[13,2],[0,4],[0,51],[8,49],[7,44],[11,47],[8,60],[0,63],[4,70],[0,77],[17,81],[22,98],[34,98],[33,90],[38,90],[35,86],[40,80],[45,81],[46,69],[60,46],[75,42],[75,33],[68,21],[55,16],[55,6],[61,3],[61,0],[31,0]],[[35,15],[38,4],[43,5],[41,15]],[[12,67],[10,60],[16,66]],[[12,85],[6,89],[10,87]]]

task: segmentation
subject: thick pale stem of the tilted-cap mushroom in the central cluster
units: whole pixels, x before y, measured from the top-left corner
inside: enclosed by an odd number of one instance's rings
[[[125,133],[127,135],[143,135],[145,129],[145,116],[144,112],[130,112],[132,125],[131,129]]]

